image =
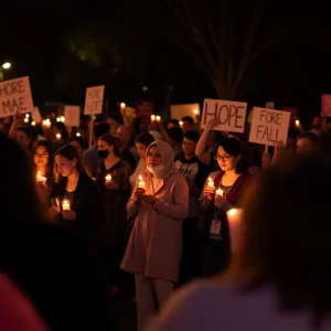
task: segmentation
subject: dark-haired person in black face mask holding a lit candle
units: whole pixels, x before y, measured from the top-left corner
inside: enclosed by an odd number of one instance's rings
[[[121,159],[118,139],[104,135],[98,139],[98,153],[103,159],[96,183],[104,211],[102,258],[108,276],[109,291],[119,290],[124,235],[127,228],[126,203],[130,194],[130,166]]]

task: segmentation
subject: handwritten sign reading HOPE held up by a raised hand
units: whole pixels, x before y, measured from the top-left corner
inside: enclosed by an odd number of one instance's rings
[[[221,124],[214,130],[244,132],[246,109],[246,103],[204,99],[201,128],[204,129],[213,117],[217,117]]]

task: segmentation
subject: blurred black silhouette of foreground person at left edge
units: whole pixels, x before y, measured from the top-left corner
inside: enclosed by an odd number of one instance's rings
[[[50,330],[111,330],[107,292],[86,246],[52,225],[22,149],[0,136],[0,153],[8,157],[0,162],[1,271],[29,297]]]

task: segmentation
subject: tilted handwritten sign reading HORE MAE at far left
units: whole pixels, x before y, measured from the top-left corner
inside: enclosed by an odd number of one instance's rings
[[[0,117],[33,111],[29,77],[0,83]]]

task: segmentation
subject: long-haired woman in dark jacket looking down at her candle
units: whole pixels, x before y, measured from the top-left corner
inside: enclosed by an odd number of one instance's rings
[[[55,173],[51,199],[57,203],[53,203],[51,215],[82,241],[96,244],[103,221],[97,186],[73,146],[63,146],[55,152]]]

